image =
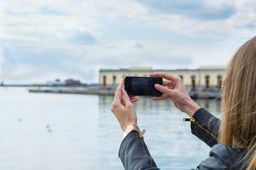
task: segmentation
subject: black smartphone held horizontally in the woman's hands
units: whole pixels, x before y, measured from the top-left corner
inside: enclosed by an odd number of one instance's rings
[[[161,77],[124,77],[124,89],[128,96],[162,96],[155,84],[162,85]]]

